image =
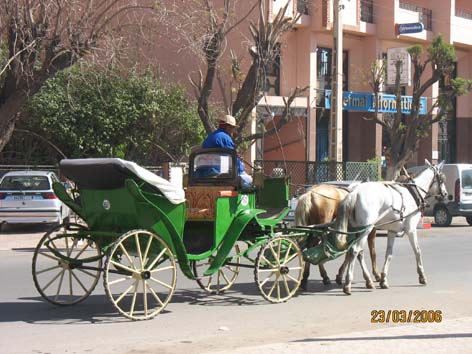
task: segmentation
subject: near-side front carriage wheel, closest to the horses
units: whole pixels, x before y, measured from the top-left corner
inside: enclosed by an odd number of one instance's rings
[[[303,277],[303,257],[297,243],[287,237],[270,239],[257,255],[254,277],[266,300],[278,303],[290,299]]]

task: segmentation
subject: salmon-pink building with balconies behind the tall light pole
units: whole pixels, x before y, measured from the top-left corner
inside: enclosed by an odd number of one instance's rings
[[[329,109],[324,106],[324,90],[331,81],[333,47],[333,0],[289,1],[290,16],[301,13],[295,30],[281,45],[279,67],[274,70],[268,95],[259,102],[258,116],[272,124],[283,106],[283,96],[294,87],[309,86],[306,96],[295,103],[296,118],[277,135],[259,144],[258,158],[265,160],[320,161],[328,156]],[[287,0],[268,2],[269,14]],[[472,78],[472,1],[470,0],[341,0],[343,17],[344,91],[369,92],[365,79],[371,64],[386,56],[389,48],[413,44],[429,45],[442,34],[454,45],[456,75]],[[421,22],[424,30],[401,34],[396,25]],[[426,72],[425,78],[428,75]],[[406,95],[411,87],[406,87]],[[388,88],[384,87],[384,91]],[[428,107],[437,95],[439,83],[426,93]],[[366,161],[382,154],[388,142],[382,128],[364,119],[373,113],[343,111],[343,160]],[[411,164],[433,161],[472,162],[472,95],[458,97],[447,122],[432,126]],[[263,151],[263,155],[261,152]],[[262,155],[262,156],[261,156]]]

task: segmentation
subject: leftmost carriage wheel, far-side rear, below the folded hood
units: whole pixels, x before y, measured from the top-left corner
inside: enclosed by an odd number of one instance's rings
[[[77,237],[81,230],[85,227],[78,224],[58,225],[41,238],[34,251],[34,285],[55,305],[85,300],[100,278],[101,250],[92,240]]]

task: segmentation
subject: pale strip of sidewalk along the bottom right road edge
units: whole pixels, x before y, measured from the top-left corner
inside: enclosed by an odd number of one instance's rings
[[[385,325],[386,326],[386,325]],[[472,352],[472,317],[391,327],[204,354],[465,354]]]

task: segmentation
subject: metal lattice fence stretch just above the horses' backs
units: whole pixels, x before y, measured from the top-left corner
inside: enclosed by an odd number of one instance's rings
[[[289,175],[291,195],[303,192],[307,187],[328,181],[377,181],[380,164],[377,162],[335,161],[268,161],[256,160],[264,174],[274,177]]]

